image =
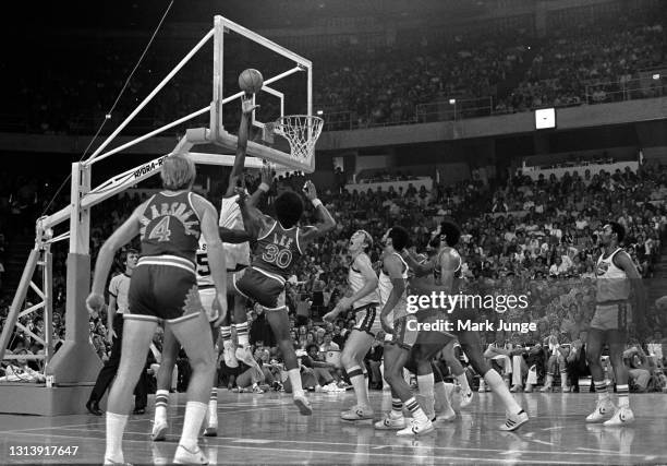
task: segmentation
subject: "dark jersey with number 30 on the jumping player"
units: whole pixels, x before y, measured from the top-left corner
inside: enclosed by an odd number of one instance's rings
[[[299,227],[282,228],[279,222],[257,239],[253,266],[288,279],[292,265],[301,258]]]

